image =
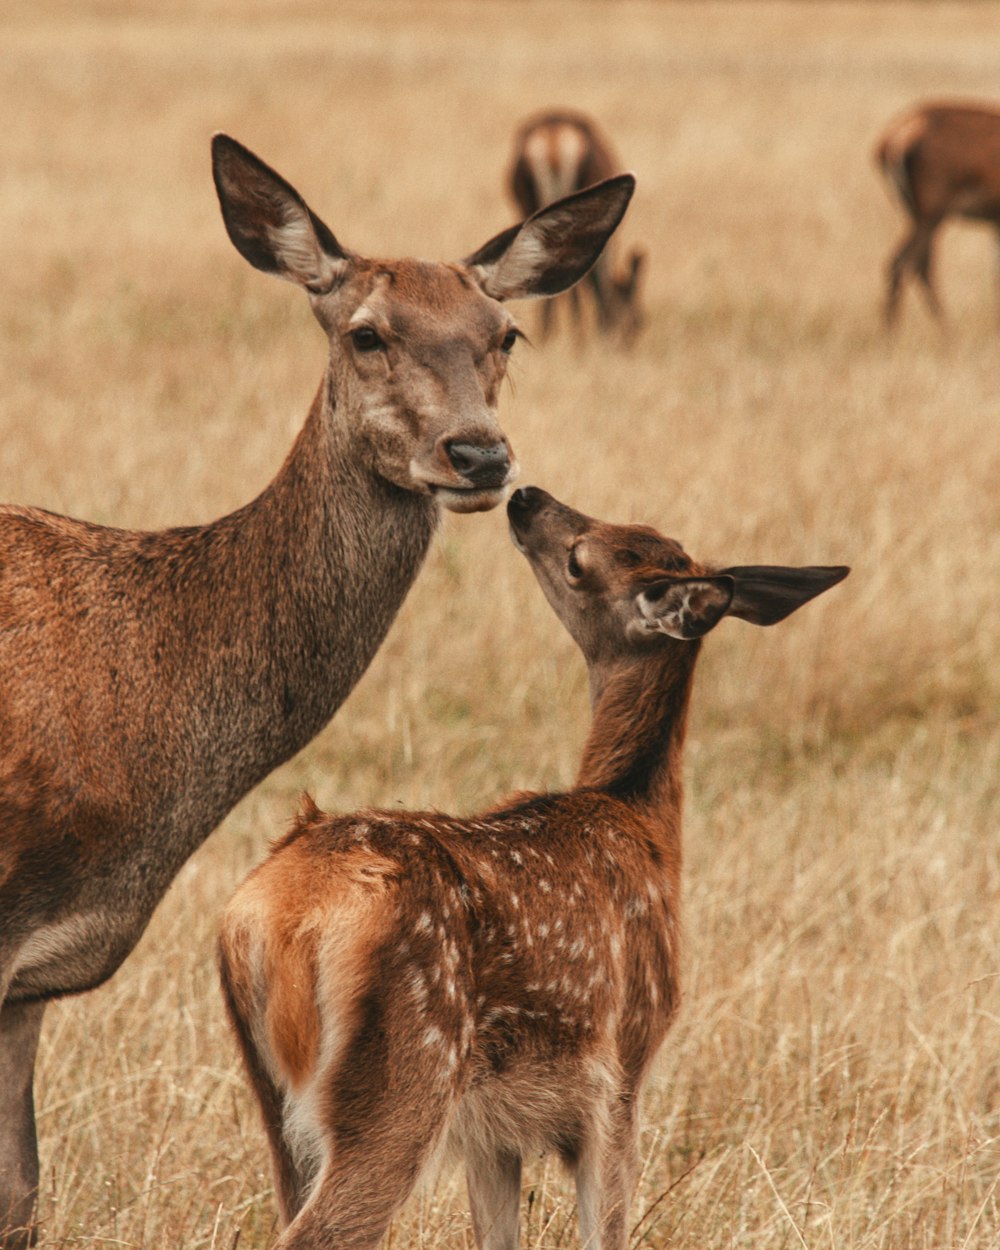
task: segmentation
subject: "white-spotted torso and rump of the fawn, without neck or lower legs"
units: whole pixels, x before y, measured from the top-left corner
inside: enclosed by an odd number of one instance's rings
[[[324,1072],[342,1072],[329,1092],[360,1134],[358,1088],[382,1065],[392,1084],[430,1074],[435,1102],[464,1100],[459,1139],[502,1120],[524,1150],[572,1154],[581,1100],[621,1065],[639,1078],[669,1026],[678,876],[601,792],[478,820],[302,816],[234,899],[222,944],[314,1166]]]

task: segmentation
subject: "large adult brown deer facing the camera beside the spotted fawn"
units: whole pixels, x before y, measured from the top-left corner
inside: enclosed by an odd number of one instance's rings
[[[34,1236],[46,1000],[109,978],[188,856],[332,716],[440,508],[504,499],[516,466],[496,404],[519,331],[502,301],[576,281],[634,185],[562,200],[456,264],[368,260],[232,139],[212,159],[230,239],[306,291],[329,361],[278,476],[231,516],[144,534],[0,509],[6,1248]]]

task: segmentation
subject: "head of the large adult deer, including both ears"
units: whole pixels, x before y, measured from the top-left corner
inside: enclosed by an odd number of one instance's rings
[[[519,331],[505,300],[556,295],[600,255],[630,175],[549,205],[465,260],[372,260],[342,248],[299,192],[226,135],[212,140],[222,218],[251,265],[296,282],[330,340],[330,381],[371,469],[458,512],[518,476],[496,419]]]

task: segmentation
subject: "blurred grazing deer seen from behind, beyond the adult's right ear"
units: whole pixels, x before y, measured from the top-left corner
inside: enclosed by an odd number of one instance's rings
[[[572,191],[610,178],[619,170],[609,141],[596,125],[580,112],[546,112],[529,119],[514,141],[510,192],[521,212],[538,212],[546,204]],[[580,291],[586,286],[594,299],[598,329],[630,344],[642,328],[639,282],[645,252],[632,249],[625,268],[615,271],[614,256],[605,248],[586,281],[566,295],[576,325],[581,321]],[[541,310],[541,332],[552,331],[555,302]]]

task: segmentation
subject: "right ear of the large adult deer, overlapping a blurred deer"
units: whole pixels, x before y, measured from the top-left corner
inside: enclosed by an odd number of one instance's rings
[[[600,256],[634,190],[631,174],[588,186],[495,235],[462,264],[495,300],[558,295]]]

